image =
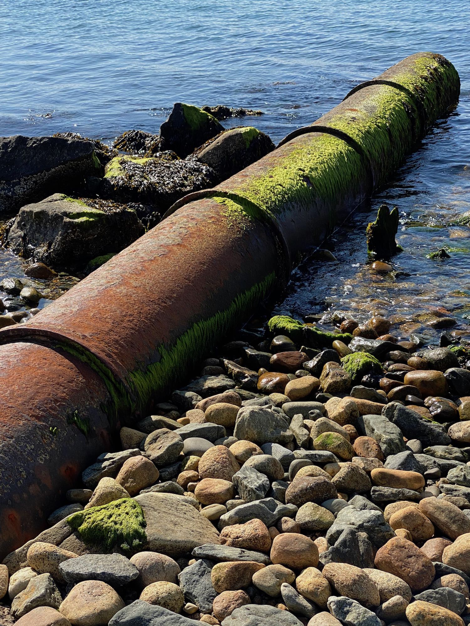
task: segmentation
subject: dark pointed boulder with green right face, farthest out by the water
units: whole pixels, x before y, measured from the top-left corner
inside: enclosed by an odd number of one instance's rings
[[[169,118],[160,126],[161,148],[174,150],[184,158],[222,130],[224,127],[210,113],[197,106],[177,102]]]

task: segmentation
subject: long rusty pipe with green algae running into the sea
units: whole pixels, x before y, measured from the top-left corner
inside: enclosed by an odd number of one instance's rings
[[[43,528],[113,430],[151,408],[282,287],[457,103],[414,54],[168,217],[30,322],[0,332],[0,553]]]

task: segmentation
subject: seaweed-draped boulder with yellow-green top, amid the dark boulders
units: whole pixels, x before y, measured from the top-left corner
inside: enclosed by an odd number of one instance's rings
[[[116,156],[106,167],[102,193],[120,202],[149,204],[164,213],[187,193],[216,182],[216,173],[206,163],[179,159],[166,151],[152,157]]]

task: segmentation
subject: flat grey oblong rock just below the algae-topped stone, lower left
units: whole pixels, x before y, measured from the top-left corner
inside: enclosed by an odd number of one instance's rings
[[[102,580],[109,585],[127,585],[138,578],[138,569],[121,554],[85,554],[59,565],[67,582]]]

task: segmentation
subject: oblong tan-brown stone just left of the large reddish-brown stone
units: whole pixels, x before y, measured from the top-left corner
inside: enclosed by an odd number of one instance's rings
[[[339,595],[357,600],[367,607],[379,606],[379,588],[360,567],[348,563],[326,563],[321,573]]]

